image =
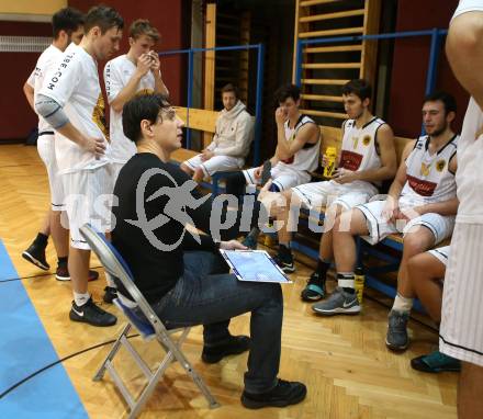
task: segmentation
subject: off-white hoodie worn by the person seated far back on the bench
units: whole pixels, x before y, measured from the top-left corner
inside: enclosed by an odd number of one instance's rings
[[[254,121],[245,109],[238,101],[231,111],[224,109],[220,112],[215,135],[207,150],[215,156],[247,157],[254,139]]]

